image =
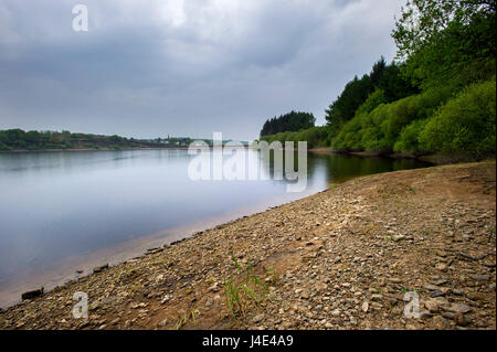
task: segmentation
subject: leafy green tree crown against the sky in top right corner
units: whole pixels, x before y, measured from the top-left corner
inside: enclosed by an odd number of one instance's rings
[[[423,88],[495,74],[495,0],[413,0],[392,33],[404,73]]]

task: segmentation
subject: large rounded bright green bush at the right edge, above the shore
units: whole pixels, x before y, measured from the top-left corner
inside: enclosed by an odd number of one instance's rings
[[[451,99],[430,119],[419,139],[430,151],[495,156],[496,82],[472,85]]]

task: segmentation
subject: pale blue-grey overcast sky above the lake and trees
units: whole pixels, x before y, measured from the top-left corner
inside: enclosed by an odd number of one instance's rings
[[[1,0],[0,129],[252,140],[391,61],[404,0]],[[88,9],[88,31],[72,9]]]

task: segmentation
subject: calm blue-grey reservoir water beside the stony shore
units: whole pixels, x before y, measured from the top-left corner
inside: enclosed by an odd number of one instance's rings
[[[286,181],[191,181],[192,158],[186,150],[0,153],[0,306],[38,285],[74,278],[76,269],[88,273],[91,265],[186,236],[189,228],[352,177],[427,166],[309,153],[307,190],[287,193]]]

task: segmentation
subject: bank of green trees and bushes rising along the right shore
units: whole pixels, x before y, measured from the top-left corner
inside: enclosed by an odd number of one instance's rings
[[[496,1],[412,0],[382,57],[326,109],[326,126],[262,139],[308,140],[342,151],[444,153],[496,150]]]

